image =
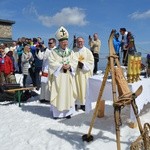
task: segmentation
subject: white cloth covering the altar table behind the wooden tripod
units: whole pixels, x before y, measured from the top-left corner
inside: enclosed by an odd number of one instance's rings
[[[85,103],[86,113],[89,113],[92,110],[92,103],[97,101],[100,87],[103,81],[103,76],[104,75],[94,75],[87,81],[88,83]],[[138,106],[139,113],[143,109],[143,106],[150,102],[150,78],[141,77],[141,80],[138,82],[129,83],[129,88],[132,92],[135,92],[141,85],[143,86],[143,91],[141,95],[136,98],[136,104]],[[111,79],[107,79],[102,95],[102,100],[113,100]],[[130,108],[130,119],[133,122],[136,121],[132,107]]]

